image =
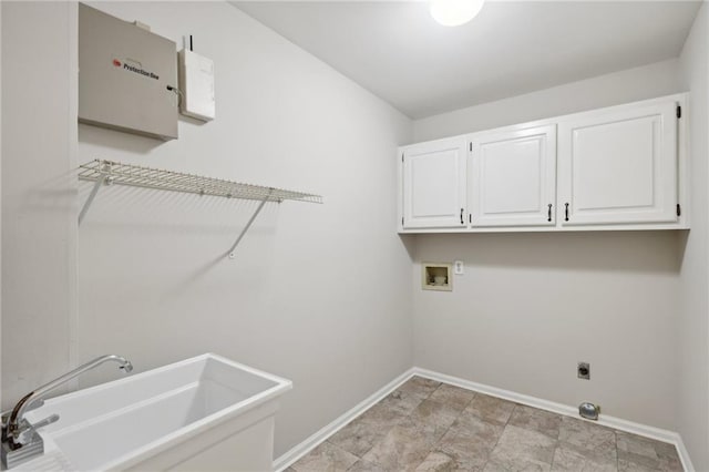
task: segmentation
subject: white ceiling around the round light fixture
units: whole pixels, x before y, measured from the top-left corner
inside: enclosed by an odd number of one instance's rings
[[[489,1],[446,28],[423,1],[233,1],[412,119],[679,55],[700,2]]]

